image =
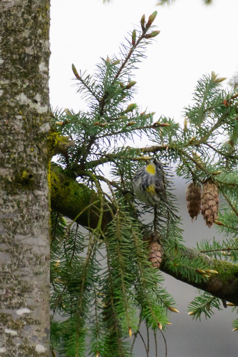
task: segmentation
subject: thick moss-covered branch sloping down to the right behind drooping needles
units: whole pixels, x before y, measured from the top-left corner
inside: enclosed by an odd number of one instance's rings
[[[57,178],[58,177],[58,178]],[[93,195],[94,199],[97,198],[95,192],[92,192],[84,185],[79,185],[72,178],[66,176],[61,171],[58,174],[56,171],[52,175],[52,195],[51,195],[51,206],[56,209],[58,212],[63,215],[71,218],[72,220],[78,215],[78,213],[82,210],[82,207],[86,207],[89,205],[91,200],[91,195]],[[66,189],[68,188],[68,189]],[[73,188],[73,189],[72,189]],[[87,190],[87,195],[84,195],[83,192]],[[57,192],[60,192],[60,197],[57,195]],[[83,205],[82,199],[75,199],[76,197],[83,196]],[[65,205],[65,202],[68,202]],[[73,204],[70,205],[70,202]],[[70,209],[67,207],[70,206]],[[110,222],[111,216],[109,214],[105,214],[103,217],[104,227]],[[94,216],[95,226],[97,225],[97,216]],[[77,220],[79,224],[82,226],[87,226],[86,217],[80,216]],[[165,273],[173,276],[174,278],[181,280],[189,285],[195,286],[199,289],[205,290],[212,295],[221,298],[222,300],[226,300],[234,303],[238,306],[238,265],[231,264],[226,261],[220,261],[217,259],[212,259],[205,254],[198,252],[196,249],[186,248],[185,251],[182,252],[184,257],[188,257],[189,259],[196,260],[198,257],[202,258],[202,260],[210,267],[212,270],[216,270],[218,274],[214,274],[209,278],[207,282],[203,281],[201,283],[192,282],[184,277],[182,277],[179,273],[174,273],[169,265],[167,264],[167,257],[164,255],[162,260],[162,265],[160,269]]]

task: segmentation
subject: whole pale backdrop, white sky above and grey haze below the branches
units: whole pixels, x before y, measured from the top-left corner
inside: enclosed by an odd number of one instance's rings
[[[93,73],[100,57],[117,54],[133,24],[139,25],[143,14],[148,19],[155,10],[158,15],[154,24],[161,32],[148,47],[148,58],[135,71],[138,94],[133,102],[142,110],[155,111],[155,120],[164,115],[182,122],[183,107],[192,104],[193,89],[203,74],[214,71],[227,77],[226,86],[238,72],[237,0],[214,0],[212,6],[203,5],[202,0],[175,0],[171,6],[156,6],[156,0],[113,0],[106,5],[102,0],[51,0],[53,109],[85,109],[84,101],[72,86],[75,82],[71,64],[78,71]],[[192,225],[185,210],[185,183],[179,179],[176,186],[180,213],[186,218],[186,244],[195,246],[196,240],[218,237],[216,230],[205,226],[202,217]],[[237,316],[231,314],[230,308],[209,321],[192,321],[187,315],[187,304],[196,290],[167,276],[165,286],[181,312],[171,316],[173,325],[166,331],[169,357],[237,357],[238,336],[231,331],[232,320]],[[162,339],[160,342],[160,356],[164,356]]]

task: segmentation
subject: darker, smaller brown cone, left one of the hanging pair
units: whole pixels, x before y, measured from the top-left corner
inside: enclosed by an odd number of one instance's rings
[[[187,209],[190,217],[195,220],[201,210],[201,187],[198,187],[195,182],[190,183],[186,188]]]

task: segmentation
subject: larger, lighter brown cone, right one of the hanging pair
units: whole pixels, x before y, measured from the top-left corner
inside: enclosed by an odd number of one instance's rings
[[[205,183],[202,193],[202,215],[206,225],[211,227],[218,214],[218,188],[214,183]]]

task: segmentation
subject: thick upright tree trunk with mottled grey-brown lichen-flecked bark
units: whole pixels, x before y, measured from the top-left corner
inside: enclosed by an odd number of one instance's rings
[[[0,1],[1,356],[50,356],[49,7]]]

